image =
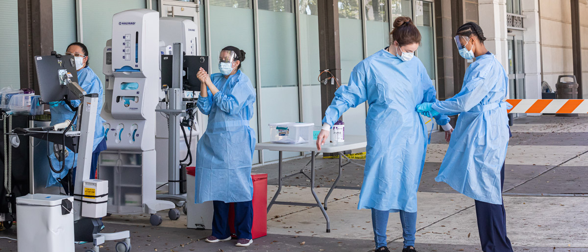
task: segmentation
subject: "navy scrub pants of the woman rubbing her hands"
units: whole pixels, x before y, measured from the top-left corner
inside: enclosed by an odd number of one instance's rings
[[[230,236],[229,208],[230,203],[212,201],[215,213],[212,217],[212,236],[225,239]],[[253,201],[233,203],[235,207],[235,231],[237,238],[251,240],[253,226]]]

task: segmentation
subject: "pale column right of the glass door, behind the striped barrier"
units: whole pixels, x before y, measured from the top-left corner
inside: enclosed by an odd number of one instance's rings
[[[526,31],[523,32],[525,97],[527,99],[540,99],[542,78],[539,1],[521,0],[520,5],[521,14],[526,16],[523,20],[524,28],[526,28]]]

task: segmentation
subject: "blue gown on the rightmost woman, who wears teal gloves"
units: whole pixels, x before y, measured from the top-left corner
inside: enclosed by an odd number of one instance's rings
[[[508,77],[492,54],[476,57],[459,94],[437,101],[432,108],[457,114],[455,131],[435,178],[475,200],[502,204],[500,169],[509,142]]]

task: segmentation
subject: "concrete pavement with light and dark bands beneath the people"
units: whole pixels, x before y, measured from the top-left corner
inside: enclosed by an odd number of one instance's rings
[[[506,160],[504,200],[507,231],[515,251],[588,251],[588,117],[524,117],[515,120]],[[482,251],[474,201],[434,178],[447,150],[443,133],[432,136],[419,188],[417,245],[423,251]],[[283,175],[296,173],[308,158],[285,163]],[[336,178],[337,160],[318,158],[316,191],[324,199]],[[362,161],[357,161],[362,163]],[[363,169],[348,165],[339,185],[361,186]],[[268,173],[268,202],[277,188],[277,164],[253,169]],[[313,203],[306,177],[292,177],[280,201]],[[373,249],[370,211],[357,210],[359,190],[336,189],[329,198],[331,233],[317,207],[274,205],[268,213],[268,236],[246,248],[235,240],[209,244],[210,231],[189,230],[185,215],[149,226],[148,216],[105,217],[106,232],[131,230],[133,251],[361,251]],[[161,213],[166,216],[166,213]],[[387,232],[392,251],[402,250],[398,214],[390,214]],[[15,238],[14,227],[0,236]],[[104,251],[113,251],[107,243]],[[78,245],[76,251],[85,251]],[[16,251],[16,242],[0,239],[0,249]],[[101,250],[102,251],[102,250]]]

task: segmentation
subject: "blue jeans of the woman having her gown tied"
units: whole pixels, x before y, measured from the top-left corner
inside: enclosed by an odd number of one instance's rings
[[[372,226],[376,248],[386,246],[386,227],[388,226],[388,215],[398,210],[381,211],[372,208]],[[416,234],[416,212],[409,213],[400,210],[400,223],[402,223],[402,237],[404,247],[415,246]]]

